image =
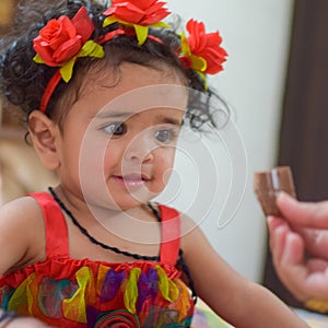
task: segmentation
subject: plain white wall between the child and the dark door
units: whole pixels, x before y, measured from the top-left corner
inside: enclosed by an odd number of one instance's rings
[[[221,140],[186,141],[191,150],[178,152],[172,203],[201,221],[231,266],[259,281],[266,221],[253,194],[253,173],[276,161],[293,1],[168,0],[167,5],[186,21],[204,21],[210,32],[219,28],[229,60],[210,81],[232,107]]]

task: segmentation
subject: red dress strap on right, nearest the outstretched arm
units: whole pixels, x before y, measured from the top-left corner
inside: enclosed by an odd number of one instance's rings
[[[162,218],[160,260],[175,266],[180,248],[180,215],[175,209],[159,206]]]

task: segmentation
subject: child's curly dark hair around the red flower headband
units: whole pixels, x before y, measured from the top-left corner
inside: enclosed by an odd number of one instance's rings
[[[105,19],[103,12],[107,7],[96,0],[23,0],[17,5],[11,32],[0,40],[0,96],[7,98],[9,105],[20,107],[25,118],[28,118],[32,110],[39,108],[44,91],[57,70],[56,67],[33,61],[35,56],[33,39],[50,20],[61,15],[72,19],[81,7],[86,8],[95,26],[93,39],[117,28],[115,24],[103,27]],[[109,65],[118,72],[120,63],[131,62],[155,69],[163,68],[164,63],[180,74],[191,91],[185,122],[188,121],[192,129],[200,130],[206,122],[215,127],[216,113],[223,113],[227,118],[229,109],[225,103],[204,85],[204,81],[192,69],[186,69],[177,58],[176,50],[180,40],[175,28],[150,28],[149,34],[160,38],[161,43],[148,38],[139,46],[136,36],[117,35],[103,45],[106,54],[104,58],[80,58],[70,82],[59,82],[46,114],[58,121],[62,120],[65,112],[58,108],[63,106],[57,106],[58,102],[62,98],[71,104],[75,102],[79,98],[83,77],[95,65],[102,68]]]

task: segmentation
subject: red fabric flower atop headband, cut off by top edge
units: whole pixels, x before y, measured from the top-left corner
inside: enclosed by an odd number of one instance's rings
[[[157,2],[157,0],[113,0],[112,7],[104,14],[114,15],[130,24],[145,26],[155,24],[169,14],[163,8],[165,4],[165,2]]]

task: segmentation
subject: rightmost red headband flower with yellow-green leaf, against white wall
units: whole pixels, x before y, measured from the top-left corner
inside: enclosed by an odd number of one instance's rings
[[[222,38],[219,32],[206,33],[202,22],[189,20],[186,25],[188,38],[181,39],[181,60],[201,73],[215,74],[223,70],[226,51],[220,47]]]

